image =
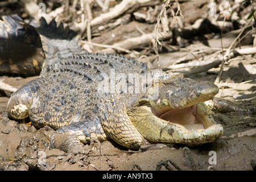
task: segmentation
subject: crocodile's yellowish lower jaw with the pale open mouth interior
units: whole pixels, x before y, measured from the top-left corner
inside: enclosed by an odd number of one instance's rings
[[[139,106],[139,113],[130,116],[130,120],[139,133],[152,142],[197,145],[213,142],[224,132],[204,102],[179,109],[143,105]]]

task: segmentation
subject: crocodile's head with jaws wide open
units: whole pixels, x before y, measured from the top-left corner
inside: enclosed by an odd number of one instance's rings
[[[175,75],[154,84],[127,114],[139,133],[152,142],[209,143],[224,132],[204,104],[217,93],[217,85]]]

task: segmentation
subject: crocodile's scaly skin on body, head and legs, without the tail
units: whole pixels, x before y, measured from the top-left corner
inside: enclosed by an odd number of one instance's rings
[[[147,83],[150,85],[146,87],[147,92],[143,93],[143,88],[139,87],[135,93],[136,80],[131,80],[131,73],[135,78],[141,77],[138,85],[143,85],[143,78],[150,75],[158,73],[158,77],[154,78],[153,86]],[[56,129],[52,146],[64,151],[76,153],[82,150],[77,147],[79,141],[88,143],[94,137],[98,140],[111,138],[124,147],[137,150],[147,140],[200,144],[213,142],[223,133],[222,126],[214,123],[207,106],[201,103],[218,93],[216,85],[183,75],[169,76],[126,57],[90,53],[71,56],[49,65],[46,77],[40,79],[46,81],[36,90],[26,112],[33,125]],[[106,89],[102,90],[104,86]],[[133,91],[129,92],[131,88]],[[11,117],[25,115],[13,114],[17,110],[15,97],[20,97],[20,93],[10,98],[9,114]],[[151,108],[158,114],[175,109],[181,111],[195,104],[199,110],[197,120],[203,118],[205,129],[188,130],[151,111]],[[61,140],[61,134],[70,137]]]

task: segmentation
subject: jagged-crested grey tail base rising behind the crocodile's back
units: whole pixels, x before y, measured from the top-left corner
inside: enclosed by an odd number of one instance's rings
[[[47,74],[47,65],[59,63],[60,59],[68,56],[80,54],[82,47],[80,45],[80,37],[75,31],[65,27],[63,23],[57,26],[53,19],[49,24],[43,17],[40,19],[40,24],[36,27],[46,55],[41,76]]]

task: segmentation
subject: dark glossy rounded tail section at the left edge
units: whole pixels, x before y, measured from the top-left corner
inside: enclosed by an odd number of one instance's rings
[[[44,61],[40,36],[18,15],[0,20],[0,73],[39,75]]]

